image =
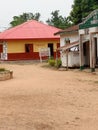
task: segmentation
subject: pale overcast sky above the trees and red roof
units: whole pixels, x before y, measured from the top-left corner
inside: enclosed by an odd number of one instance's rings
[[[13,16],[31,12],[41,14],[41,21],[51,18],[51,12],[60,10],[60,15],[68,16],[73,0],[2,0],[0,4],[0,30],[9,26]]]

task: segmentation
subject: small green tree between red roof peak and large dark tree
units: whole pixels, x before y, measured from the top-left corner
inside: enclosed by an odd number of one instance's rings
[[[59,15],[59,10],[53,11],[51,15],[52,15],[51,19],[48,19],[46,21],[48,25],[55,26],[60,29],[64,29],[71,25],[71,23],[69,22],[69,19]]]

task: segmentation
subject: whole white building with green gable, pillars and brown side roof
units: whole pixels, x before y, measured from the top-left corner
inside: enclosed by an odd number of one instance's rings
[[[98,9],[89,14],[79,25],[59,31],[62,66],[85,66],[95,71],[98,67]],[[79,46],[79,51],[71,51]],[[77,52],[77,53],[76,53]]]

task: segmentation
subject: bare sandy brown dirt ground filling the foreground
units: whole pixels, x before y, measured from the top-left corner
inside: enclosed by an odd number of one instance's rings
[[[2,63],[0,130],[98,130],[98,75],[43,64]]]

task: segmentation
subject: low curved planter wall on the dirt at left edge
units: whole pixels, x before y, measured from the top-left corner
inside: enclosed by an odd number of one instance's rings
[[[13,71],[5,70],[0,72],[0,81],[8,80],[13,78]]]

